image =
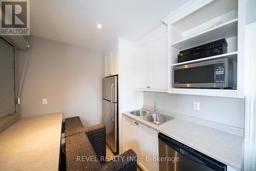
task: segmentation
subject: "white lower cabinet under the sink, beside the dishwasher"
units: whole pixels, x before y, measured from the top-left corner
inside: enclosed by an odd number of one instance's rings
[[[124,149],[133,149],[143,170],[158,170],[158,132],[128,117],[123,122]]]

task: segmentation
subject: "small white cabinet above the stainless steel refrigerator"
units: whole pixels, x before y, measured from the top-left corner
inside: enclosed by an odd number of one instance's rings
[[[105,53],[105,77],[118,74],[118,48]]]

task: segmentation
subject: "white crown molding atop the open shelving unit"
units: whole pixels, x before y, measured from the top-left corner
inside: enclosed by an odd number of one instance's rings
[[[196,10],[204,7],[205,5],[213,1],[214,0],[191,0],[183,6],[181,6],[180,8],[178,8],[177,10],[170,13],[169,15],[167,15],[161,21],[167,25],[173,24],[181,18],[184,18],[185,16],[195,12]]]

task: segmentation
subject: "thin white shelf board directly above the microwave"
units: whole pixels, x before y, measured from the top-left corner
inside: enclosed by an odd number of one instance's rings
[[[225,54],[221,54],[221,55],[216,55],[216,56],[210,56],[210,57],[206,57],[206,58],[201,58],[201,59],[195,59],[195,60],[189,60],[189,61],[185,61],[185,62],[180,62],[180,63],[174,63],[172,65],[170,65],[171,67],[174,66],[181,66],[181,65],[186,65],[189,63],[194,63],[194,62],[201,62],[201,61],[205,61],[205,60],[211,60],[211,59],[219,59],[219,58],[224,58],[224,57],[228,57],[231,60],[237,60],[237,55],[238,52],[230,52],[230,53],[225,53]]]

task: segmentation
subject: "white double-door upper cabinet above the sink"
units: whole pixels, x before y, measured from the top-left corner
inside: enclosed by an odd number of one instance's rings
[[[135,44],[135,90],[167,92],[166,30],[163,25]]]

